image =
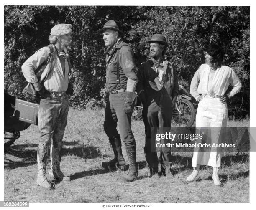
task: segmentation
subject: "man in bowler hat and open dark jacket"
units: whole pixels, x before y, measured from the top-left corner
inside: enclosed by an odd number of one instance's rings
[[[139,82],[136,91],[143,104],[146,132],[144,152],[153,176],[158,173],[156,132],[170,132],[172,108],[178,96],[179,85],[172,63],[163,58],[167,47],[166,38],[161,34],[154,34],[148,43],[151,59],[143,63],[137,73]],[[160,157],[161,172],[166,175],[166,169],[170,169],[172,164],[172,155],[169,151],[161,151]]]

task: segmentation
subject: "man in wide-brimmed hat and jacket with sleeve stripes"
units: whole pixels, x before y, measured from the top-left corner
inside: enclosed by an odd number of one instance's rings
[[[106,53],[106,85],[109,97],[105,109],[104,130],[112,145],[115,158],[110,162],[103,162],[103,167],[118,165],[125,168],[122,154],[121,140],[125,143],[130,161],[129,173],[123,177],[124,181],[133,181],[138,177],[136,164],[136,142],[131,130],[131,116],[133,101],[136,97],[135,89],[138,82],[136,66],[131,47],[124,43],[118,25],[114,20],[109,20],[99,30],[103,35]],[[117,131],[119,123],[120,135]],[[121,137],[120,137],[121,136]]]

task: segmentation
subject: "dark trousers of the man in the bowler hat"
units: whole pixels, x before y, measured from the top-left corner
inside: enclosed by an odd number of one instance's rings
[[[167,106],[168,107],[168,106]],[[152,101],[148,107],[143,107],[143,122],[145,125],[145,147],[146,161],[152,170],[158,170],[158,158],[156,152],[155,137],[157,133],[170,132],[172,121],[172,109],[161,108],[155,101]],[[152,134],[152,139],[151,139]],[[161,144],[166,144],[166,140],[161,140]],[[169,149],[161,150],[160,163],[161,166],[172,164],[172,155]]]

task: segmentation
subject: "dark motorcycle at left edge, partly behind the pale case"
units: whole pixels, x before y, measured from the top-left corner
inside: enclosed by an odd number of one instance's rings
[[[20,131],[26,130],[31,124],[20,121],[19,114],[15,111],[15,101],[18,96],[4,92],[4,149],[8,150],[16,139],[20,137]]]

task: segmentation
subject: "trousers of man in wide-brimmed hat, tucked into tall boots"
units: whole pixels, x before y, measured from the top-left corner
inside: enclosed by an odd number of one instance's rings
[[[126,147],[132,147],[136,144],[131,130],[132,114],[124,112],[125,100],[125,92],[118,94],[110,93],[105,109],[104,130],[109,139],[120,139],[121,137]],[[116,129],[117,125],[120,135]]]

